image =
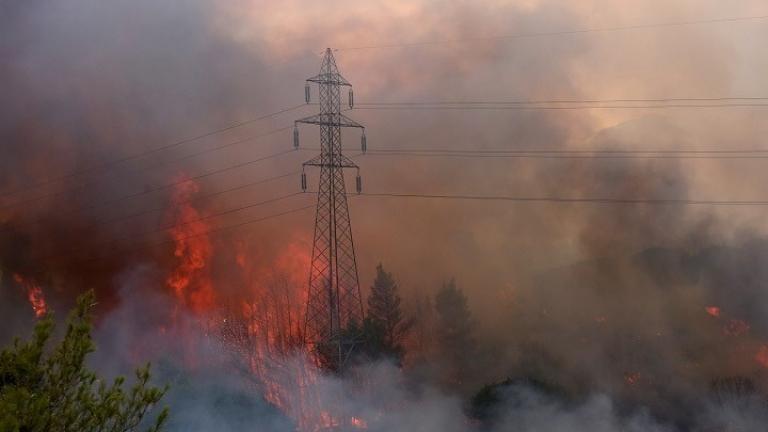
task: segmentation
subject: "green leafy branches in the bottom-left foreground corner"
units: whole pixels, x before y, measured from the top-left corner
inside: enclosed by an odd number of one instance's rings
[[[0,352],[0,431],[2,432],[133,432],[163,397],[167,388],[149,386],[149,364],[136,371],[136,383],[124,389],[124,378],[111,384],[85,367],[93,352],[93,292],[78,299],[67,320],[64,338],[48,349],[53,318],[35,325],[28,342],[15,340]],[[148,432],[159,431],[168,416],[163,409]]]

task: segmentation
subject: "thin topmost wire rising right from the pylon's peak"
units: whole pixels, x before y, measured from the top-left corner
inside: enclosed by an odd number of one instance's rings
[[[413,48],[413,47],[423,47],[423,46],[431,46],[431,45],[459,44],[459,43],[467,43],[467,42],[482,42],[482,41],[505,40],[505,39],[509,39],[509,40],[528,39],[528,38],[551,37],[551,36],[579,35],[579,34],[587,34],[587,33],[610,33],[610,32],[630,31],[630,30],[658,29],[658,28],[665,28],[665,27],[685,27],[685,26],[693,26],[693,25],[722,24],[722,23],[733,23],[733,22],[744,22],[744,21],[762,21],[765,19],[768,19],[768,15],[713,18],[713,19],[690,20],[690,21],[672,21],[672,22],[635,24],[635,25],[616,26],[616,27],[594,27],[594,28],[574,29],[574,30],[558,30],[558,31],[550,31],[550,32],[514,33],[514,34],[507,34],[507,35],[476,36],[476,37],[468,37],[468,38],[443,39],[443,40],[432,40],[432,41],[421,41],[421,42],[400,42],[400,43],[384,43],[384,44],[378,44],[378,45],[359,45],[359,46],[337,48],[337,51],[360,51],[360,50],[382,49],[382,48]]]

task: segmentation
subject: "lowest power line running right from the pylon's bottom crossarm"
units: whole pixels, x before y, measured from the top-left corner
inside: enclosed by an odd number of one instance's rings
[[[449,194],[417,194],[417,193],[373,193],[362,192],[360,196],[380,198],[412,198],[434,200],[469,200],[469,201],[511,201],[511,202],[545,202],[563,204],[649,204],[649,205],[711,205],[711,206],[768,206],[768,201],[739,201],[739,200],[691,200],[691,199],[641,199],[641,198],[570,198],[570,197],[527,197],[500,195],[449,195]]]

